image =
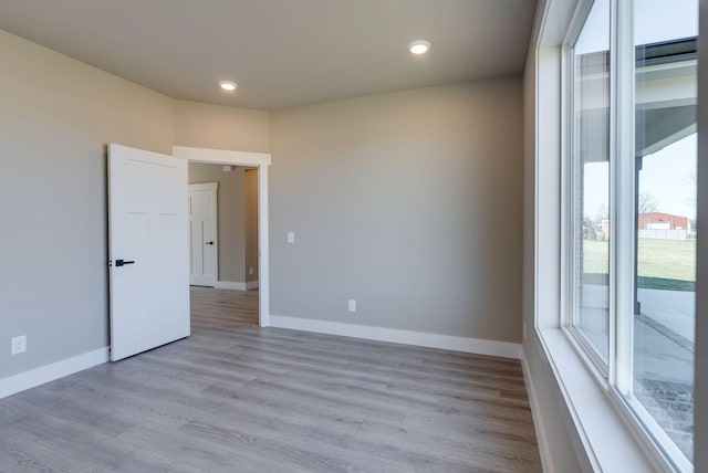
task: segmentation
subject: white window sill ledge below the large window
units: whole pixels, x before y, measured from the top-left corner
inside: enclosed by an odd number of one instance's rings
[[[538,328],[542,357],[549,360],[563,400],[594,471],[663,471],[644,449],[606,387],[559,327]]]

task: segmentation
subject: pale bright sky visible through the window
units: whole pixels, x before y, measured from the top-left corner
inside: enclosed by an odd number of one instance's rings
[[[648,44],[698,34],[698,0],[635,0],[635,44]],[[604,51],[610,44],[610,0],[595,0],[581,35],[576,54]],[[639,175],[639,192],[650,193],[658,210],[696,217],[697,137],[693,134],[646,156]],[[607,207],[608,166],[585,165],[584,213],[594,218]]]

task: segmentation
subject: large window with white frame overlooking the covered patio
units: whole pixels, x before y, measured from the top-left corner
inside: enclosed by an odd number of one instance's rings
[[[565,325],[648,443],[689,471],[698,0],[595,0],[575,31]]]

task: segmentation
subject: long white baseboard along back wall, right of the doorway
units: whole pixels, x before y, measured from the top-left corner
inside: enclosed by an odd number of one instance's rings
[[[396,328],[372,327],[368,325],[344,324],[341,322],[316,320],[313,318],[270,315],[270,326],[317,334],[341,335],[367,340],[391,341],[426,348],[464,351],[470,354],[521,359],[521,346],[509,341],[482,340],[479,338],[455,337],[451,335],[427,334],[399,330]]]

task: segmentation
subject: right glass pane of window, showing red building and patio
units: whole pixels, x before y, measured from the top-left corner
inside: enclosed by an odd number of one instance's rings
[[[633,396],[693,461],[697,0],[635,0]],[[622,157],[624,158],[624,157]],[[621,340],[622,341],[622,340]]]

